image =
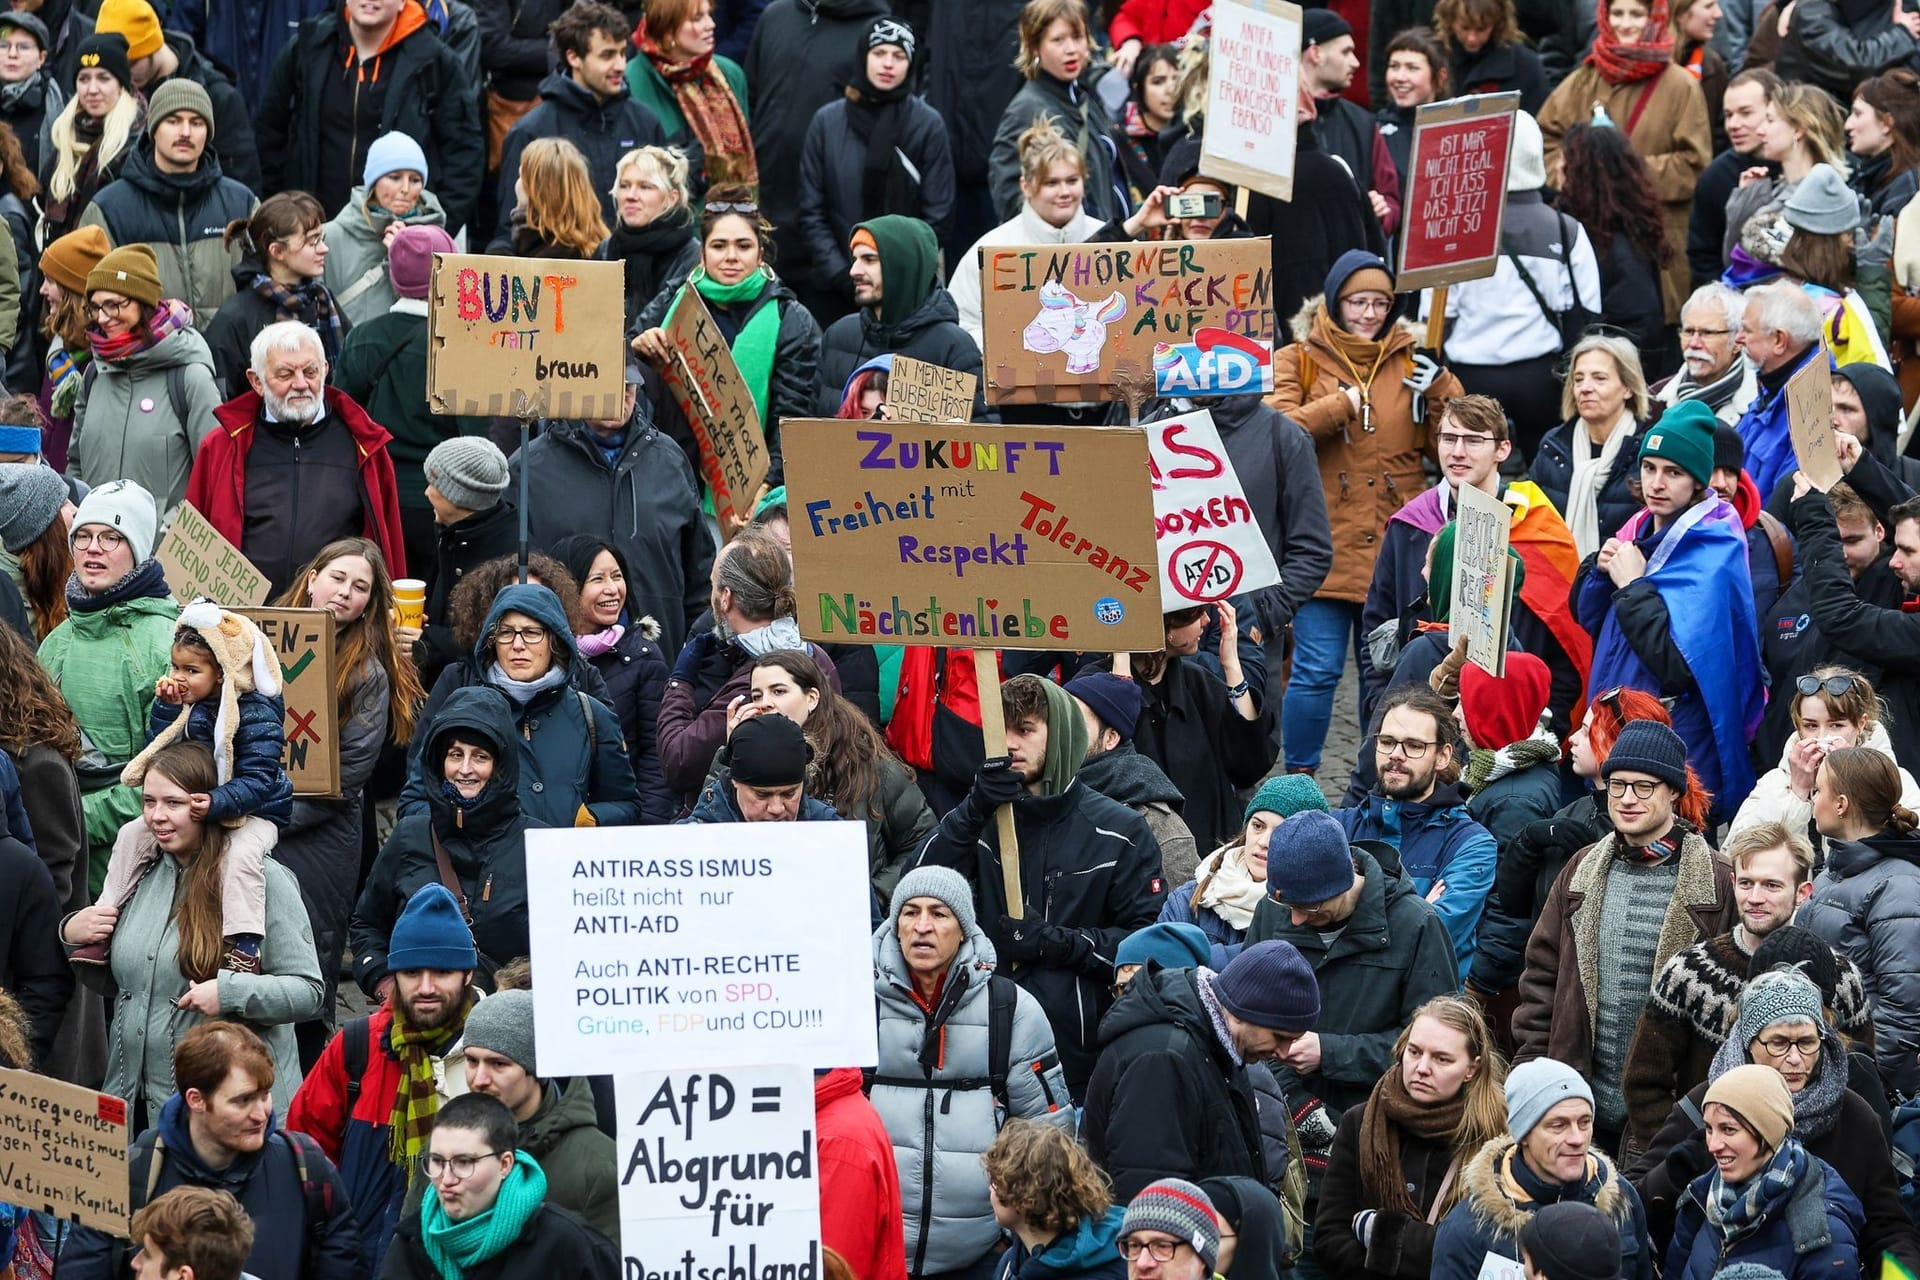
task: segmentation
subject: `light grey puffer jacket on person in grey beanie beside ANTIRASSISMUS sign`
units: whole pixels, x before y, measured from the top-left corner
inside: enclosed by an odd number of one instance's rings
[[[975,927],[947,969],[933,1011],[914,996],[893,919],[874,931],[879,1071],[870,1098],[893,1140],[906,1221],[906,1265],[927,1276],[977,1263],[1000,1238],[979,1157],[1010,1117],[1073,1130],[1073,1102],[1046,1013],[1016,988],[1006,1100],[987,1088],[993,942]],[[1018,1065],[1018,1069],[1014,1069]]]

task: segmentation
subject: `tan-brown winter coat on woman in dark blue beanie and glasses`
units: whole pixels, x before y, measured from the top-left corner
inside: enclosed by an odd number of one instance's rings
[[[1386,522],[1427,487],[1421,455],[1432,447],[1446,403],[1461,393],[1459,378],[1442,372],[1427,395],[1427,418],[1415,422],[1413,391],[1404,382],[1419,345],[1411,326],[1394,324],[1382,342],[1363,342],[1338,328],[1323,299],[1313,297],[1294,317],[1292,332],[1306,338],[1273,353],[1267,403],[1304,426],[1319,453],[1332,568],[1315,597],[1363,604]],[[1373,430],[1361,428],[1346,397],[1356,384],[1367,388]]]

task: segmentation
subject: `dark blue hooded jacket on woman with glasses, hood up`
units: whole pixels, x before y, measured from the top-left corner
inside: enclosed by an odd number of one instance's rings
[[[493,597],[488,608],[480,637],[465,668],[468,685],[493,687],[490,672],[493,668],[493,628],[507,612],[526,614],[547,628],[547,645],[553,654],[553,668],[568,672],[568,677],[551,689],[541,689],[524,704],[507,710],[513,731],[509,739],[518,743],[518,794],[520,808],[541,827],[630,827],[641,821],[664,821],[664,814],[647,814],[641,808],[639,791],[634,785],[634,766],[626,758],[626,745],[620,739],[620,722],[612,708],[580,691],[574,677],[578,649],[572,628],[561,601],[545,587],[509,585]],[[549,668],[549,670],[553,670]],[[451,708],[453,699],[440,708],[430,722],[430,733],[440,737],[440,716]],[[591,722],[589,722],[591,718]],[[440,762],[428,762],[428,752],[415,752],[407,787],[399,794],[401,816],[417,814],[422,804],[432,808],[434,793],[440,789]],[[499,764],[495,762],[495,770]],[[497,960],[511,960],[524,952],[507,952]]]

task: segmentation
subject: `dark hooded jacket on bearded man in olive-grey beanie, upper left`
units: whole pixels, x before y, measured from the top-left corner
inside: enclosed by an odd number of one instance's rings
[[[192,173],[161,173],[154,148],[132,148],[121,177],[94,192],[81,226],[102,226],[115,246],[144,244],[159,259],[159,296],[194,309],[205,332],[232,297],[238,249],[223,242],[227,225],[250,217],[259,201],[204,154]]]

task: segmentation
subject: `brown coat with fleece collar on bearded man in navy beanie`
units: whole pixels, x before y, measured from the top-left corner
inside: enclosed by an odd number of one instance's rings
[[[1599,990],[1599,908],[1617,841],[1609,835],[1574,854],[1540,908],[1526,940],[1521,1004],[1513,1011],[1517,1063],[1553,1057],[1582,1075],[1592,1071],[1599,1011],[1588,992]],[[1682,950],[1732,927],[1732,869],[1707,841],[1688,831],[1680,842],[1680,881],[1653,950],[1653,973]]]

